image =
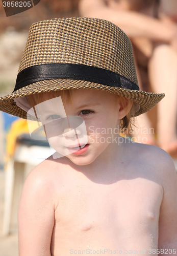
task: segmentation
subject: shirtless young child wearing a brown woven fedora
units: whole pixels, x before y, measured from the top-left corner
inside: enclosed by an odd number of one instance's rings
[[[0,109],[41,121],[57,155],[24,184],[20,256],[176,254],[172,160],[118,132],[163,97],[139,91],[131,42],[114,24],[32,25],[14,92]]]

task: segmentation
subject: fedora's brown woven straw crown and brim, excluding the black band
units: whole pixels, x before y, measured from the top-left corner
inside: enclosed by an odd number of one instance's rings
[[[130,39],[116,25],[95,18],[57,18],[31,26],[18,73],[45,63],[75,63],[116,72],[138,84]],[[104,86],[89,81],[50,79],[32,83],[0,99],[0,110],[21,118],[26,112],[14,98],[29,94],[67,90],[105,90],[132,99],[140,105],[140,115],[153,108],[164,94],[153,94]]]

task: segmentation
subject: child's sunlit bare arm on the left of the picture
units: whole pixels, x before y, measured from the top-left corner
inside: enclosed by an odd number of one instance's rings
[[[51,255],[50,242],[55,223],[54,186],[45,174],[37,167],[24,184],[18,212],[19,256]]]

